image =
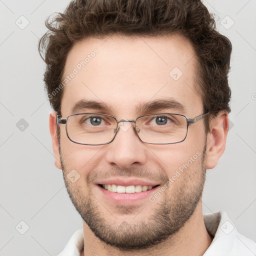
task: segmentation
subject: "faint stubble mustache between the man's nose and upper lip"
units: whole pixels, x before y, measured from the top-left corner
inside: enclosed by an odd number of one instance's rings
[[[120,169],[113,167],[108,170],[92,170],[86,177],[86,181],[88,184],[94,183],[97,179],[107,179],[116,176],[126,176],[126,177],[135,177],[135,178],[146,178],[152,181],[159,181],[160,183],[165,183],[168,181],[168,176],[166,173],[159,170],[149,170],[146,168],[125,168]]]

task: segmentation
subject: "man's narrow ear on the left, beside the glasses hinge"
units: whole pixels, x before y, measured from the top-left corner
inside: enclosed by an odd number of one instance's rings
[[[56,111],[53,111],[49,115],[49,128],[50,128],[50,135],[52,140],[52,148],[53,148],[53,154],[55,157],[55,166],[59,169],[61,168],[60,164],[60,155],[58,150],[58,139],[57,139],[57,133],[56,133]]]

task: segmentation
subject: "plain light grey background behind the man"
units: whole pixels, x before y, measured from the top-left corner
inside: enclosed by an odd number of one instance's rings
[[[82,228],[54,166],[37,52],[45,18],[68,2],[0,0],[0,255],[54,255]],[[231,128],[217,167],[207,170],[203,212],[225,210],[238,231],[256,241],[256,0],[204,4],[233,53]]]

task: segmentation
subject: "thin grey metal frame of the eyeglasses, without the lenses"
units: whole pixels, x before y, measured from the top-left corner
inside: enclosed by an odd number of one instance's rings
[[[120,123],[120,122],[133,122],[133,123],[134,123],[133,129],[135,130],[135,133],[136,133],[136,135],[138,136],[139,140],[142,141],[143,143],[147,143],[147,144],[156,144],[156,145],[175,144],[175,143],[180,143],[180,142],[182,142],[182,141],[185,140],[185,138],[186,138],[186,136],[187,136],[188,126],[189,126],[190,124],[193,124],[193,123],[197,122],[198,120],[200,120],[201,118],[203,118],[203,117],[204,117],[205,115],[207,115],[208,113],[209,113],[209,112],[207,112],[207,113],[205,113],[205,114],[200,114],[200,115],[197,115],[197,116],[195,116],[195,117],[193,117],[193,118],[187,118],[184,114],[177,114],[177,113],[152,113],[152,114],[144,114],[144,115],[138,116],[136,119],[119,119],[119,120],[117,120],[114,116],[112,116],[112,115],[110,115],[110,114],[102,114],[102,113],[75,113],[75,114],[70,114],[70,115],[68,115],[66,118],[61,118],[61,115],[60,115],[60,114],[57,114],[57,115],[56,115],[56,129],[57,129],[57,127],[58,127],[58,124],[65,124],[65,130],[66,130],[66,135],[67,135],[68,139],[69,139],[70,141],[76,143],[76,144],[81,144],[81,145],[106,145],[106,144],[111,143],[111,142],[114,140],[114,138],[115,138],[115,136],[116,136],[116,134],[117,134],[117,132],[118,132],[118,130],[119,130],[118,123]],[[110,141],[108,141],[108,142],[100,143],[100,144],[88,144],[88,143],[81,143],[81,142],[77,142],[77,141],[72,140],[72,139],[69,137],[68,132],[67,132],[67,128],[66,128],[67,119],[68,119],[68,117],[70,117],[70,116],[79,115],[79,114],[100,114],[100,115],[110,116],[110,117],[112,117],[113,119],[115,119],[115,121],[116,121],[116,128],[115,128],[114,136],[112,137],[112,139],[111,139]],[[143,116],[148,116],[148,115],[163,115],[163,114],[174,114],[174,115],[181,115],[181,116],[185,117],[185,119],[186,119],[186,134],[185,134],[185,137],[184,137],[182,140],[180,140],[180,141],[177,141],[177,142],[169,142],[169,143],[150,143],[150,142],[145,142],[145,141],[143,141],[143,140],[139,137],[139,135],[138,135],[138,133],[137,133],[137,130],[136,130],[136,128],[135,128],[136,120],[139,119],[139,118],[141,118],[141,117],[143,117]]]

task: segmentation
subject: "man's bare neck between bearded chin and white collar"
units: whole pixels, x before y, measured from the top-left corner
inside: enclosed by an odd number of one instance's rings
[[[212,238],[208,234],[202,215],[201,201],[198,202],[193,215],[182,228],[165,241],[145,249],[123,250],[105,244],[99,240],[83,221],[84,251],[83,255],[100,256],[144,256],[148,255],[171,255],[171,256],[199,256],[203,255],[209,247]]]

